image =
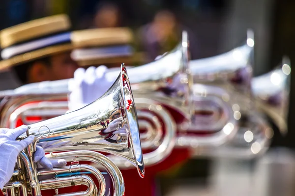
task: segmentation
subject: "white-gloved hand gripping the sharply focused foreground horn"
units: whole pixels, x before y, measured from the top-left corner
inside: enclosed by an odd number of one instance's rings
[[[28,147],[34,140],[34,136],[30,135],[26,139],[17,141],[16,139],[28,130],[28,126],[22,125],[15,129],[0,128],[0,190],[12,177],[18,154]],[[45,156],[45,152],[41,146],[36,146],[33,160],[37,163],[38,168],[52,170],[55,167],[64,167],[66,161],[51,160]],[[0,191],[0,196],[3,195]]]

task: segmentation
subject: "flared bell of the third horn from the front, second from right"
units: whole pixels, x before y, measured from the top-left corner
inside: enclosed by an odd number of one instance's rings
[[[248,30],[243,46],[217,56],[190,61],[193,80],[223,88],[233,97],[233,102],[239,104],[241,111],[252,110],[253,53],[254,33]]]

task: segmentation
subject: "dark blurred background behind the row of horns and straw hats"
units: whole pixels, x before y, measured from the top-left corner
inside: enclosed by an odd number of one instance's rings
[[[1,0],[0,29],[65,13],[73,30],[127,26],[146,61],[173,49],[188,31],[192,59],[214,56],[244,43],[255,32],[254,75],[276,67],[283,55],[295,62],[295,1],[291,0]],[[165,24],[165,28],[163,25]],[[164,30],[154,36],[152,29]],[[156,39],[154,46],[150,39]],[[154,40],[153,40],[154,41]],[[159,47],[160,46],[160,47]],[[158,177],[164,196],[294,196],[295,96],[292,72],[289,130],[275,130],[270,150],[255,160],[189,160],[177,172]],[[0,90],[12,89],[0,73]],[[275,129],[275,127],[274,127]]]

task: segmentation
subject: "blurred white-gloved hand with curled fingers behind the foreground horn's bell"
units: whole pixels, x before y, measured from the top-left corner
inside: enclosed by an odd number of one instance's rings
[[[70,111],[80,109],[100,98],[114,83],[114,79],[106,78],[107,67],[89,67],[86,71],[79,68],[74,78],[69,80],[68,106]]]

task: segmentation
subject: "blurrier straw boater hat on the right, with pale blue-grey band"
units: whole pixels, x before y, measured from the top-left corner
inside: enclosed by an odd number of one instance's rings
[[[73,31],[71,56],[80,66],[132,63],[140,58],[131,46],[133,40],[126,27]]]

